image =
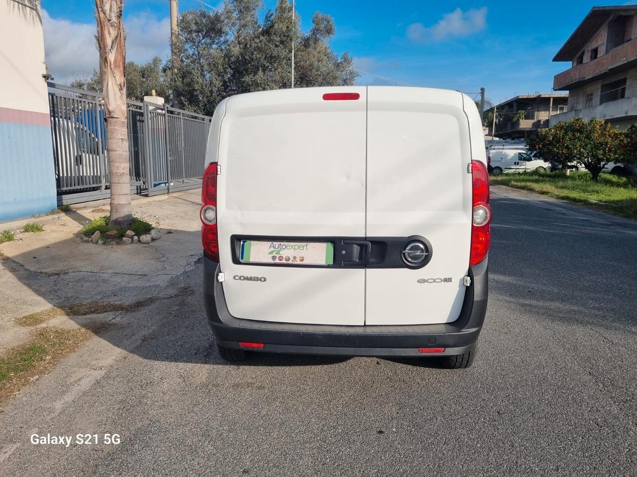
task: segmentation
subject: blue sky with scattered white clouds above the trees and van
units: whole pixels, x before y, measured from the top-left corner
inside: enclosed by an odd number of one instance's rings
[[[206,0],[220,6],[219,0]],[[620,2],[624,3],[624,2]],[[265,0],[273,8],[276,0]],[[552,58],[590,8],[589,1],[343,1],[297,0],[303,29],[315,11],[334,18],[337,53],[349,52],[363,71],[416,86],[477,93],[501,102],[551,91],[566,63]],[[56,80],[92,71],[95,23],[91,0],[42,0],[47,64]],[[180,0],[180,11],[199,8]],[[146,61],[168,55],[168,0],[128,0],[127,56]],[[360,84],[399,84],[362,74]]]

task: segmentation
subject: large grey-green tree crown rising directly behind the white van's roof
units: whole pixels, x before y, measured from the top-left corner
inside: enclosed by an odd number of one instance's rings
[[[304,33],[285,0],[260,20],[261,0],[229,0],[221,11],[184,11],[180,17],[175,74],[171,85],[185,109],[212,114],[227,96],[291,86],[352,85],[352,58],[340,58],[329,46],[335,33],[331,17],[315,13]],[[167,71],[173,71],[168,63]]]

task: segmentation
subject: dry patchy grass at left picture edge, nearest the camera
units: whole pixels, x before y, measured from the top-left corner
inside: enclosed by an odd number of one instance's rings
[[[50,371],[78,349],[93,333],[85,328],[39,328],[31,341],[0,356],[0,403]]]

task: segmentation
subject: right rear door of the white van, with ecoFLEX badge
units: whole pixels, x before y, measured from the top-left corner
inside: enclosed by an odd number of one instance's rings
[[[368,87],[366,236],[420,235],[432,256],[417,270],[367,268],[366,324],[457,319],[469,266],[470,163],[462,93]]]

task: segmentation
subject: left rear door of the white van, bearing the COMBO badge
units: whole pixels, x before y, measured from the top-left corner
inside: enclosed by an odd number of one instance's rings
[[[334,92],[358,97],[324,99]],[[364,268],[249,265],[237,254],[250,239],[278,245],[364,238],[366,100],[364,86],[227,99],[217,214],[225,301],[235,317],[364,324]],[[294,258],[300,252],[290,254],[290,262]]]

